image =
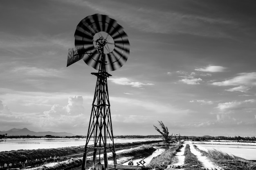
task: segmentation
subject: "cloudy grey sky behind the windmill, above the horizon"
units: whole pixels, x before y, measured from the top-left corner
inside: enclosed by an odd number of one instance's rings
[[[0,2],[0,131],[86,135],[97,72],[69,67],[77,24],[108,15],[130,42],[109,72],[114,135],[256,135],[256,2],[6,0]]]

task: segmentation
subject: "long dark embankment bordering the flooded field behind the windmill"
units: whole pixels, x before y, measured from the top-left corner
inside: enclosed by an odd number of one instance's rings
[[[142,144],[153,144],[158,143],[161,141],[146,141],[146,142],[132,142],[132,143],[120,143],[115,144],[116,150],[121,150],[124,148],[130,148],[133,146],[139,146]],[[64,159],[65,157],[82,157],[84,152],[83,146],[77,146],[77,147],[66,147],[66,148],[55,148],[55,149],[37,149],[37,150],[12,150],[12,151],[4,151],[0,152],[0,166],[4,163],[12,163],[18,164],[19,162],[24,162],[26,160],[31,160],[33,163],[35,162],[35,159],[43,159],[49,158],[49,157],[60,157],[61,159]],[[93,148],[92,146],[88,147],[88,155],[92,154]],[[53,161],[53,160],[49,160]],[[40,162],[38,162],[40,163]]]

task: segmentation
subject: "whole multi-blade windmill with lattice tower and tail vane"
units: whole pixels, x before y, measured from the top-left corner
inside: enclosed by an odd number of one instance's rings
[[[87,65],[98,70],[96,73],[91,73],[97,76],[97,83],[83,154],[82,170],[85,170],[88,143],[91,138],[94,142],[94,167],[97,170],[102,169],[101,154],[103,153],[104,168],[108,170],[107,150],[112,152],[114,164],[117,164],[117,159],[107,84],[107,78],[112,75],[107,71],[117,70],[127,61],[130,51],[128,36],[116,20],[107,15],[94,14],[79,22],[74,37],[76,47],[68,49],[67,66],[83,59]]]

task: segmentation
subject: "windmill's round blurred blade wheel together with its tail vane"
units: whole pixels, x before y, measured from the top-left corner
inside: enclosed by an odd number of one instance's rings
[[[121,68],[128,59],[128,36],[124,28],[107,15],[85,17],[76,26],[74,37],[76,48],[70,50],[67,66],[83,58],[96,70],[103,65],[106,70],[113,71]]]

